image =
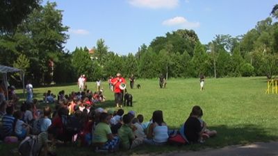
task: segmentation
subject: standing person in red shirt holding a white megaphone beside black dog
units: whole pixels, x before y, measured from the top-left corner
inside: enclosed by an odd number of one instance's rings
[[[117,77],[113,78],[111,80],[111,83],[114,86],[114,95],[115,95],[115,103],[117,107],[122,107],[122,97],[124,94],[124,91],[122,89],[120,89],[120,84],[121,83],[126,83],[126,80],[124,78],[122,78],[120,73],[117,73]]]

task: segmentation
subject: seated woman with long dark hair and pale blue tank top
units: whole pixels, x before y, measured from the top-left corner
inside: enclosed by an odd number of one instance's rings
[[[161,110],[154,111],[152,115],[152,123],[149,125],[146,144],[162,145],[168,140],[167,124],[163,120],[163,112]]]

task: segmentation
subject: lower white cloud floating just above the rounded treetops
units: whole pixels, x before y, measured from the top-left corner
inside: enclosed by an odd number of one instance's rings
[[[165,26],[181,26],[182,28],[198,28],[200,26],[199,22],[191,22],[184,17],[167,19],[163,21],[162,24]]]

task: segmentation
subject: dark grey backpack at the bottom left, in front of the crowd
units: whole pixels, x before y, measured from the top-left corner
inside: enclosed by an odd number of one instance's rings
[[[19,144],[18,152],[22,156],[38,156],[40,155],[41,146],[38,144],[38,136],[32,135],[26,137]]]

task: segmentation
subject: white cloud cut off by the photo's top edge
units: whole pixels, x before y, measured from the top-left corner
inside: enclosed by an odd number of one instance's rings
[[[176,8],[179,0],[129,0],[132,6],[141,8]]]

